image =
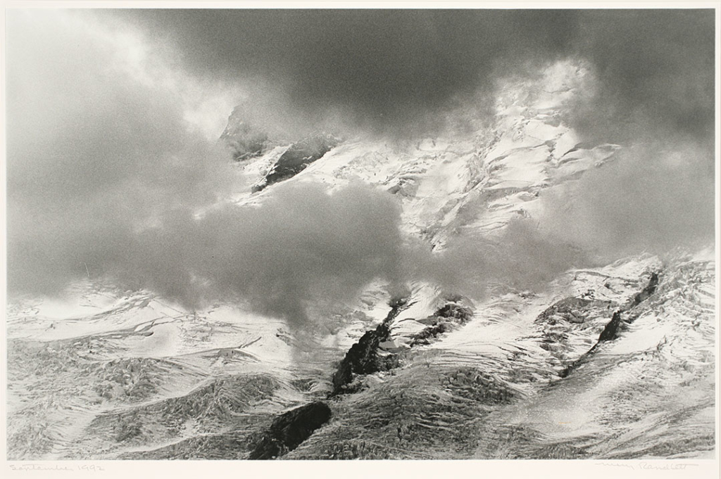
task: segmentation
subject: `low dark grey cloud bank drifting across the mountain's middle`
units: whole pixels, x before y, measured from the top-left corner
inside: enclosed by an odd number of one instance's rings
[[[244,301],[298,323],[317,297],[344,300],[373,279],[399,279],[402,244],[389,194],[289,184],[257,207],[227,205],[146,231],[133,248],[143,256],[133,253],[118,271],[191,306]]]

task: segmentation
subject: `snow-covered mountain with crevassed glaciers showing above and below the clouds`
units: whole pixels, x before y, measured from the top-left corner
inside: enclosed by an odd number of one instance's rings
[[[540,215],[541,192],[622,149],[581,143],[564,121],[584,74],[560,63],[508,81],[490,125],[414,144],[280,140],[236,109],[221,141],[250,186],[232,201],[363,182],[397,198],[404,233],[428,249],[498,241]],[[386,286],[331,305],[311,331],[89,283],[66,303],[15,303],[9,458],[713,456],[713,245],[570,269],[539,290],[502,277],[479,297]]]

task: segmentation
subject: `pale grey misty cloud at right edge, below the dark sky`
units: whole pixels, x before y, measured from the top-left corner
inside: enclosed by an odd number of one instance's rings
[[[598,261],[711,244],[713,154],[695,143],[640,145],[541,195],[549,241],[578,245]]]

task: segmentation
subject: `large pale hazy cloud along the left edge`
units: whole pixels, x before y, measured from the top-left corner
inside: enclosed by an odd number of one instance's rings
[[[124,43],[68,12],[11,12],[8,38],[11,290],[57,292],[157,216],[229,191],[185,97],[128,71]]]

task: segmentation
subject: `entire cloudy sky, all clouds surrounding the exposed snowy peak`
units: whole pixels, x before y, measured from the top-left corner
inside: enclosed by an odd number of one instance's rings
[[[547,236],[528,240],[521,227],[512,242],[539,242],[553,261],[536,266],[556,271],[568,257],[551,251],[559,230],[607,258],[713,237],[713,10],[9,10],[6,19],[11,295],[112,278],[189,308],[234,299],[302,318],[311,290],[342,300],[375,277],[402,283],[415,252],[397,205],[367,185],[333,195],[279,187],[260,209],[211,207],[242,187],[217,145],[233,107],[293,138],[327,129],[412,140],[448,131],[469,102],[490,118],[500,78],[567,58],[587,63],[595,83],[565,121],[583,140],[629,153],[584,179],[572,207],[547,199]],[[447,276],[434,261],[417,264]]]

